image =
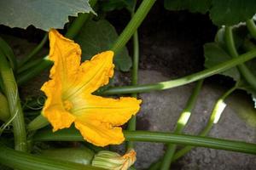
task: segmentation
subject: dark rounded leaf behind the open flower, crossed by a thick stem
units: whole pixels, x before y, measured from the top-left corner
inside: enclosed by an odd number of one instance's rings
[[[85,23],[84,27],[75,38],[82,48],[82,59],[90,59],[93,55],[109,50],[113,42],[118,38],[118,34],[108,20]],[[114,56],[115,67],[121,71],[129,71],[131,68],[131,58],[127,48]]]

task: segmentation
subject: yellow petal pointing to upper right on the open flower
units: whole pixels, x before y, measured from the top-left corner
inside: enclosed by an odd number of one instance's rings
[[[80,93],[93,93],[108,84],[108,79],[113,77],[113,67],[112,51],[96,54],[92,59],[84,61],[73,77],[72,86],[64,94],[65,99],[76,97]]]

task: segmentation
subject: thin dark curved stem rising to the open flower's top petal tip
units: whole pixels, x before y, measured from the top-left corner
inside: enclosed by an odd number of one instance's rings
[[[32,59],[32,57],[35,56],[35,54],[38,54],[38,52],[44,47],[44,44],[47,42],[47,40],[48,40],[48,32],[45,33],[44,38],[38,44],[38,46],[34,48],[30,54],[26,55],[24,59],[20,60],[20,62],[18,63],[18,67],[19,67],[18,71],[20,70],[20,67],[25,65],[29,59]]]

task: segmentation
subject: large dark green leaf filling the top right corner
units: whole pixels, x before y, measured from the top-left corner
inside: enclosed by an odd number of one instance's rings
[[[254,0],[212,0],[210,17],[218,26],[232,26],[253,18],[256,12]]]

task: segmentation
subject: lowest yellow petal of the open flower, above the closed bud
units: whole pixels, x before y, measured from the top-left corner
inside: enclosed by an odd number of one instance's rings
[[[75,127],[79,129],[84,140],[97,146],[121,144],[125,138],[121,127],[112,127],[107,123],[92,120],[81,120],[77,117]]]

